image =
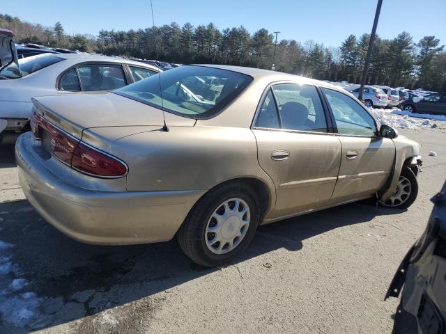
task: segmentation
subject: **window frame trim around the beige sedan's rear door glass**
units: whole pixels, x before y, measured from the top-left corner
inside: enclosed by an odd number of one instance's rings
[[[251,129],[260,129],[260,130],[269,130],[269,131],[280,131],[280,132],[295,132],[295,133],[305,133],[305,134],[333,134],[333,125],[332,125],[332,120],[328,117],[328,112],[325,109],[325,100],[323,100],[322,96],[321,96],[321,92],[319,91],[319,88],[317,85],[315,84],[302,84],[305,86],[312,86],[314,88],[316,88],[316,91],[318,93],[318,97],[321,100],[321,104],[322,104],[322,109],[324,111],[324,116],[325,116],[325,122],[327,123],[327,132],[317,132],[317,131],[312,131],[312,130],[297,130],[297,129],[282,129],[282,119],[279,113],[279,107],[277,104],[277,97],[275,95],[274,90],[272,89],[272,86],[276,86],[276,85],[282,85],[282,84],[291,84],[291,85],[299,85],[299,83],[294,82],[294,81],[274,81],[271,82],[270,84],[268,84],[268,86],[266,86],[265,90],[263,90],[263,93],[261,95],[261,98],[259,100],[259,104],[257,104],[257,108],[256,108],[256,113],[254,114],[254,118],[252,119],[252,123],[251,123]],[[279,117],[279,125],[280,125],[280,129],[275,129],[275,128],[269,128],[269,127],[257,127],[256,126],[256,121],[257,118],[259,117],[259,113],[262,109],[263,106],[263,102],[265,102],[265,99],[268,95],[269,92],[272,92],[272,96],[274,98],[274,103],[276,106],[276,112],[278,113],[278,117]],[[330,116],[331,117],[331,116]]]

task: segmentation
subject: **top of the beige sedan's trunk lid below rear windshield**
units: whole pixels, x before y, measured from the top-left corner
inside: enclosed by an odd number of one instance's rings
[[[94,127],[164,125],[162,110],[114,93],[77,93],[32,100],[34,109],[47,120],[77,138],[84,129]],[[167,114],[167,125],[193,125],[192,120]]]

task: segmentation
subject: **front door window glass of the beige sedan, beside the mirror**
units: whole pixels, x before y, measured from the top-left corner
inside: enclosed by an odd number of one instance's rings
[[[337,132],[350,136],[374,136],[376,124],[374,118],[348,95],[321,88],[336,122]]]

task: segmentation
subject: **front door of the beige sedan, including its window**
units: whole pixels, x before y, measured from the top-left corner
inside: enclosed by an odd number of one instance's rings
[[[337,90],[321,90],[342,145],[341,166],[332,200],[345,202],[371,196],[390,175],[394,143],[377,136],[376,122],[361,104]]]

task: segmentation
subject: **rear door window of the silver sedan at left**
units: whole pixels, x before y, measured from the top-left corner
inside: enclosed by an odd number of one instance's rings
[[[114,90],[127,84],[121,65],[92,64],[78,67],[82,90]]]

